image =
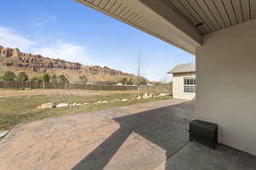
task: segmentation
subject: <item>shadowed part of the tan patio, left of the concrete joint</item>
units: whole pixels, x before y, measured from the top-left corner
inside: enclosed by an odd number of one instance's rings
[[[189,120],[195,111],[183,108],[186,104],[171,105],[144,111],[133,115],[120,116],[113,120],[120,128],[84,157],[73,170],[101,170],[108,164],[120,146],[125,143],[131,132],[137,133],[150,142],[166,150],[166,160],[189,141]],[[140,160],[138,160],[140,161]],[[125,162],[122,162],[125,164]]]

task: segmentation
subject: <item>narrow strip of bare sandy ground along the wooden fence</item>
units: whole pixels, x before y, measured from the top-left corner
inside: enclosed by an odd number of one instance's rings
[[[67,90],[67,89],[32,89],[32,90],[12,90],[0,89],[0,98],[30,95],[48,94],[73,94],[73,95],[108,95],[108,94],[136,94],[137,91],[93,91],[93,90]]]

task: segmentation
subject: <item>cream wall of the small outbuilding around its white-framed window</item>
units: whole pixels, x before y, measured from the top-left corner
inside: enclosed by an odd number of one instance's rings
[[[174,99],[195,99],[195,94],[184,93],[184,77],[195,77],[195,72],[190,73],[174,73],[172,95]]]

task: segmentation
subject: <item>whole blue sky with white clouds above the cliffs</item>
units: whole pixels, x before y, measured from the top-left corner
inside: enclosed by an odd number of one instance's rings
[[[85,65],[107,65],[136,73],[143,56],[143,76],[170,80],[173,66],[195,56],[125,25],[74,0],[3,0],[0,45]]]

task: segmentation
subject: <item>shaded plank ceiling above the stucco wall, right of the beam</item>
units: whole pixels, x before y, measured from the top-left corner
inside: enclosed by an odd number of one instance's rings
[[[166,0],[202,35],[256,18],[256,0]]]

